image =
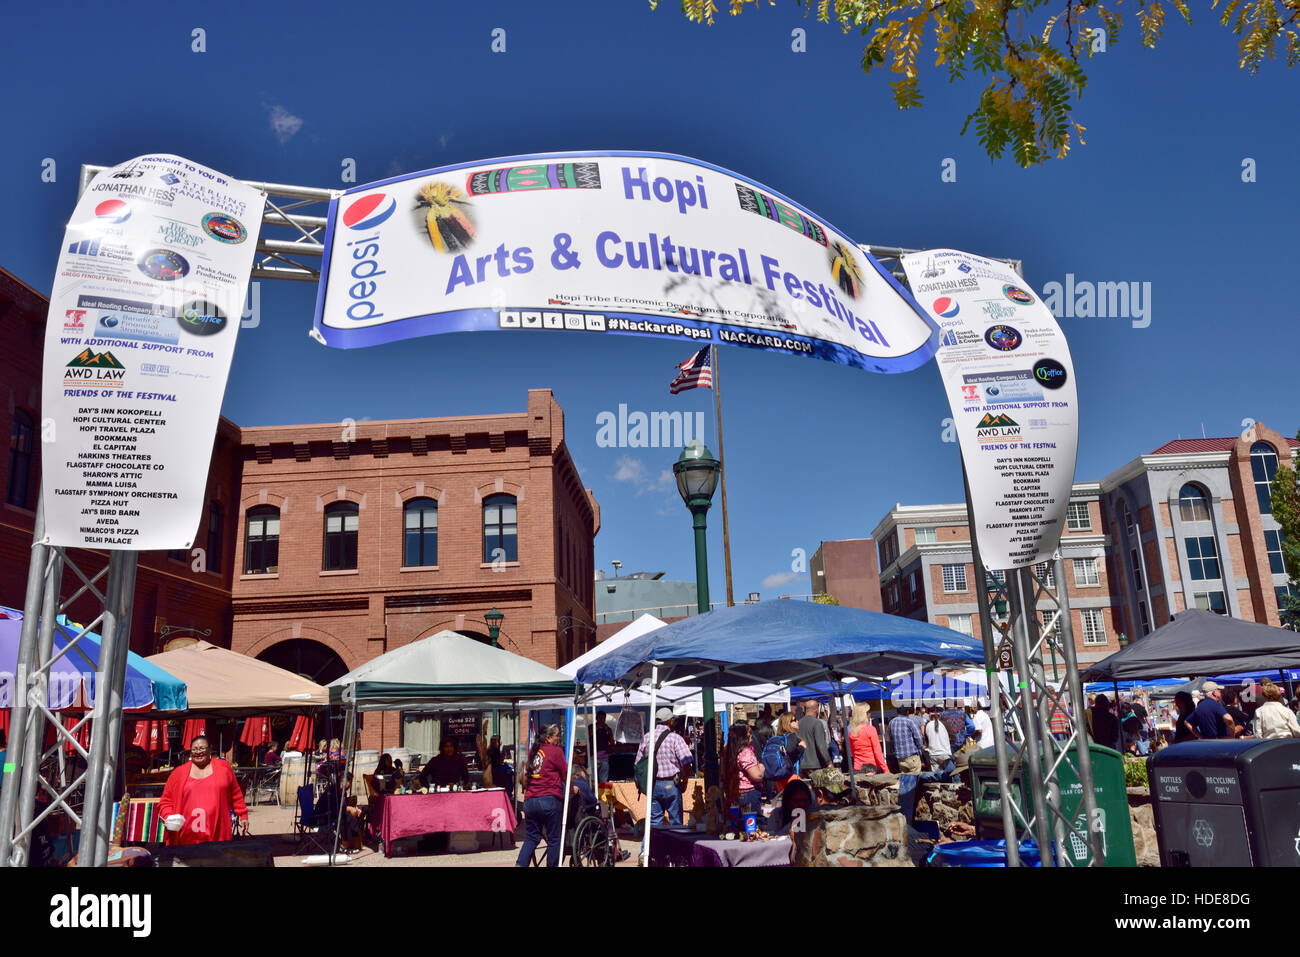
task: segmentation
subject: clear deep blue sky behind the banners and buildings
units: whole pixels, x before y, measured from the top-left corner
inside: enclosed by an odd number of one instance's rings
[[[1286,434],[1295,403],[1294,122],[1300,79],[1252,78],[1208,16],[1171,17],[1158,51],[1132,25],[1087,65],[1088,144],[1022,170],[959,137],[978,78],[922,74],[924,108],[894,108],[862,74],[862,39],[781,0],[705,29],[666,0],[569,4],[230,4],[94,16],[49,3],[5,13],[0,35],[6,229],[0,265],[49,291],[82,163],[179,153],[247,179],[343,187],[552,150],[684,153],[753,177],[858,242],[948,246],[1024,260],[1041,290],[1067,273],[1150,283],[1150,325],[1063,319],[1079,382],[1076,478],[1095,480],[1178,436]],[[207,52],[191,52],[191,30]],[[493,30],[506,52],[491,52]],[[792,52],[790,31],[807,31]],[[922,62],[933,61],[932,53]],[[57,164],[53,183],[42,163]],[[1242,179],[1254,160],[1257,181]],[[957,181],[941,164],[956,160]],[[523,410],[551,387],[568,443],[602,506],[597,566],[693,575],[689,515],[668,449],[602,449],[597,416],[707,412],[707,390],[668,394],[688,345],[578,333],[530,342],[439,335],[367,350],[307,337],[313,290],[264,282],[242,332],[224,412],[240,425]],[[881,376],[722,348],[736,592],[809,590],[792,553],[871,533],[894,502],[961,498],[957,446],[933,364]],[[715,449],[716,451],[716,449]],[[723,596],[711,514],[714,598]]]

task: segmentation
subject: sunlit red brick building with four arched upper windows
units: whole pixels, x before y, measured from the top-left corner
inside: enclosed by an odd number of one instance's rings
[[[242,429],[240,454],[235,651],[329,681],[442,629],[486,641],[494,607],[543,664],[594,645],[601,512],[549,389],[510,415]]]

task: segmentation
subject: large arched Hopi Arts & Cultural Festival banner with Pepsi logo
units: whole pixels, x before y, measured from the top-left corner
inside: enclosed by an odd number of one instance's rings
[[[317,338],[486,329],[719,342],[871,372],[914,369],[939,345],[911,294],[826,220],[684,156],[516,156],[330,204]]]

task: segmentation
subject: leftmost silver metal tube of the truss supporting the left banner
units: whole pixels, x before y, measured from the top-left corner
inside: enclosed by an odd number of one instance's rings
[[[44,597],[44,584],[47,564],[49,562],[49,546],[43,545],[46,537],[46,508],[44,495],[36,505],[36,521],[32,529],[31,563],[27,566],[27,597],[22,607],[22,636],[18,641],[18,661],[14,667],[14,690],[9,711],[9,750],[8,755],[18,755],[13,762],[14,767],[6,770],[10,785],[0,788],[0,867],[22,866],[27,861],[27,840],[23,839],[14,845],[13,826],[18,819],[18,794],[23,791],[23,784],[29,775],[32,775],[32,788],[35,787],[35,774],[22,759],[26,753],[27,733],[27,687],[31,680],[31,666],[36,657],[36,623],[40,618],[40,606]],[[32,791],[35,793],[35,791]],[[30,819],[31,811],[27,811]]]

